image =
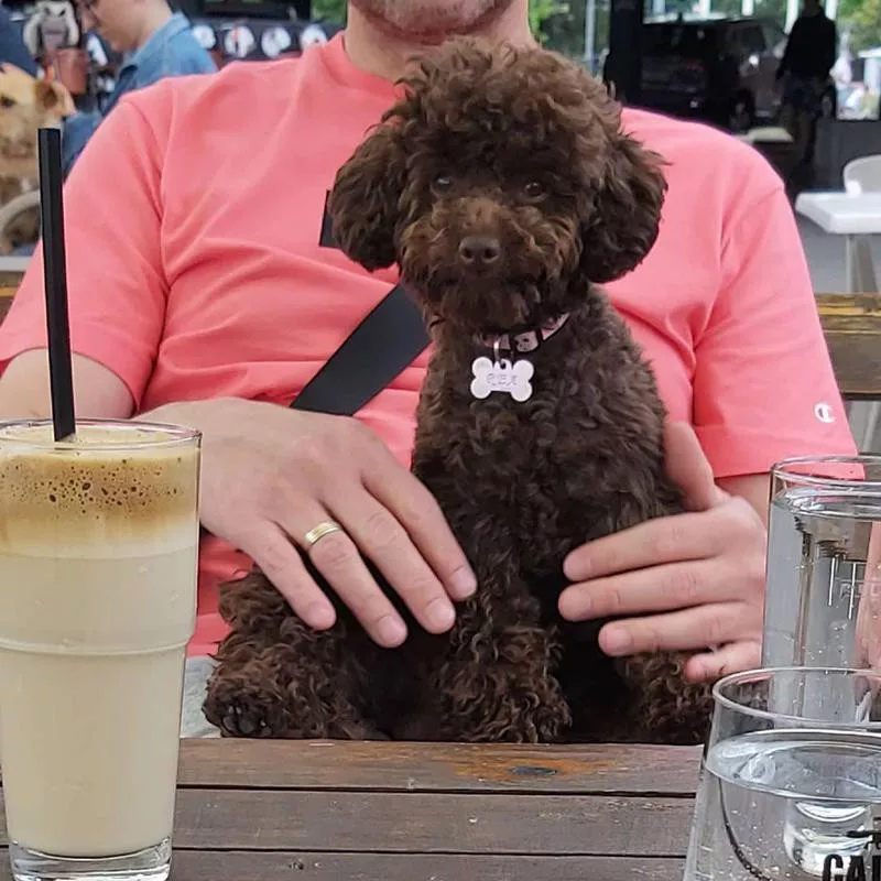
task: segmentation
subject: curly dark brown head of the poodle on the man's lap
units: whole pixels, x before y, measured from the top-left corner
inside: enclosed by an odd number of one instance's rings
[[[580,67],[456,40],[404,83],[331,194],[350,258],[400,263],[434,314],[486,333],[556,317],[649,252],[660,161]]]

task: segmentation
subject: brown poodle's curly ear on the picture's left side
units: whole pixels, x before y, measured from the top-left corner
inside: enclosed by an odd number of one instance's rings
[[[339,170],[330,193],[328,213],[336,244],[371,272],[398,260],[395,228],[405,159],[399,128],[382,123]]]

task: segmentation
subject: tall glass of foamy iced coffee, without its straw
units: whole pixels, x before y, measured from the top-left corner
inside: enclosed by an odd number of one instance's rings
[[[0,761],[19,881],[171,866],[198,433],[0,424]]]

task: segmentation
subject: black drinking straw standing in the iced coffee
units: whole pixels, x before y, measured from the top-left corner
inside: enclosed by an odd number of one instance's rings
[[[40,225],[46,287],[48,376],[55,440],[74,434],[74,378],[70,368],[70,326],[67,316],[67,267],[62,200],[62,135],[40,129]]]

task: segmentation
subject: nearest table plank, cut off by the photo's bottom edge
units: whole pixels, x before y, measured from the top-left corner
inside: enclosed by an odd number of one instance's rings
[[[175,849],[171,881],[681,881],[678,859]],[[0,881],[12,881],[0,864]]]

